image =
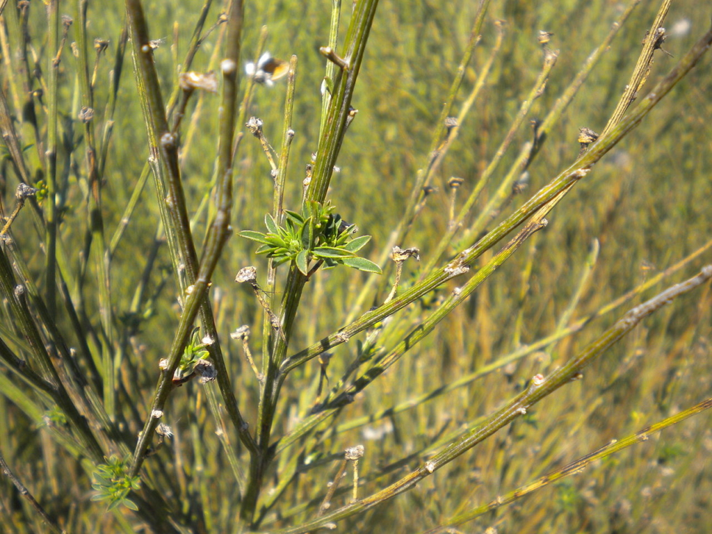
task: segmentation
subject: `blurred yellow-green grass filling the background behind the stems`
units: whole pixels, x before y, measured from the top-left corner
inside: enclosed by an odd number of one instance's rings
[[[171,50],[174,21],[178,23],[179,35],[175,55],[182,58],[199,6],[200,3],[194,1],[146,3],[152,35],[166,38],[155,51],[164,93],[169,93],[175,81]],[[65,7],[73,11],[73,7],[63,4],[62,9]],[[346,2],[345,14],[350,7]],[[576,142],[579,127],[602,130],[627,83],[656,8],[654,3],[642,2],[622,28],[611,51],[590,76],[530,167],[528,189],[514,197],[503,215],[572,162],[579,150]],[[341,171],[335,176],[330,192],[330,198],[345,220],[357,223],[362,233],[372,234],[370,251],[374,259],[397,225],[409,196],[409,184],[425,161],[442,102],[467,43],[475,9],[474,3],[464,1],[426,1],[404,6],[397,1],[382,0],[379,6],[353,102],[359,114],[347,134],[339,159]],[[619,9],[622,4],[612,1],[509,1],[491,6],[483,40],[476,48],[455,109],[488,56],[493,43],[494,19],[506,20],[504,49],[496,60],[483,98],[461,125],[459,138],[439,169],[434,183],[438,191],[429,198],[414,230],[401,246],[418,246],[425,257],[436,246],[436,238],[448,223],[447,180],[451,176],[463,177],[461,195],[468,192],[501,142],[520,100],[538,73],[541,52],[536,41],[537,31],[545,29],[555,34],[550,46],[558,48],[560,55],[545,93],[535,102],[533,117],[543,116],[550,108],[560,90],[605,36]],[[676,57],[681,56],[706,30],[708,11],[708,6],[702,3],[675,4],[669,15],[668,30],[681,21],[688,21],[690,28],[680,36],[671,34],[664,48]],[[318,47],[328,39],[329,15],[328,2],[266,1],[246,6],[245,62],[252,61],[256,55],[263,24],[269,30],[267,49],[274,56],[286,59],[294,53],[299,58],[293,124],[296,135],[286,190],[286,206],[292,209],[298,206],[300,199],[304,166],[310,160],[310,153],[316,150],[319,87],[324,66]],[[41,9],[33,7],[31,16],[30,28],[39,48],[46,22]],[[90,38],[109,38],[112,44],[117,41],[123,23],[120,2],[91,4],[89,18]],[[218,31],[214,32],[201,46],[194,68],[217,68],[216,64],[210,64],[211,58],[220,57],[214,56],[217,35]],[[110,54],[113,51],[110,48]],[[641,95],[675,61],[656,54],[649,82]],[[600,257],[574,318],[594,312],[708,241],[712,235],[712,219],[708,215],[712,198],[712,182],[708,179],[711,162],[707,157],[712,144],[708,127],[712,120],[709,66],[710,59],[706,57],[642,127],[597,164],[590,177],[582,180],[553,211],[548,228],[536,238],[533,271],[523,303],[520,303],[519,292],[527,261],[525,250],[482,286],[471,302],[441,323],[434,335],[384,375],[380,387],[369,389],[357,402],[346,407],[339,421],[406,402],[515,350],[518,347],[512,333],[520,310],[524,325],[522,343],[550,334],[577,286],[594,238],[601,244]],[[75,64],[69,54],[63,57],[62,67],[60,109],[68,112],[74,108],[71,116],[75,117]],[[95,95],[97,110],[103,110],[108,98],[109,69],[110,61],[100,64]],[[2,83],[7,92],[5,73]],[[284,85],[256,87],[247,115],[264,121],[264,130],[273,146],[281,142],[283,93]],[[194,132],[184,132],[184,139],[188,136],[191,139],[189,149],[182,154],[184,187],[191,209],[199,205],[213,175],[216,98],[214,95],[202,97],[204,104],[201,115],[192,125]],[[115,118],[104,176],[103,214],[109,235],[120,222],[147,156],[145,128],[130,66],[125,67],[122,74]],[[187,125],[188,121],[186,128]],[[79,132],[75,126],[76,142]],[[530,137],[530,130],[523,128],[515,139],[516,149]],[[505,164],[511,164],[513,153],[514,150],[510,150]],[[251,138],[241,142],[237,157],[239,177],[233,226],[236,230],[261,229],[263,215],[271,209],[273,194],[269,167],[258,143]],[[81,162],[69,162],[66,153],[61,153],[58,168],[70,164]],[[10,174],[5,165],[0,187],[6,212],[8,206],[13,205],[14,181],[5,181]],[[495,190],[498,177],[493,178],[491,186],[478,200],[479,209]],[[83,167],[68,172],[67,179],[68,210],[60,234],[70,262],[76,265],[86,231],[87,184]],[[157,221],[157,199],[153,188],[148,186],[112,261],[112,305],[117,317],[130,308]],[[13,229],[18,247],[25,253],[35,251],[31,255],[26,253],[25,259],[36,281],[41,280],[43,255],[34,244],[36,237],[29,217],[18,219]],[[194,235],[202,236],[205,230],[203,217],[197,221]],[[710,258],[710,253],[706,253],[695,265]],[[165,247],[159,251],[159,263],[166,268],[170,266]],[[244,361],[239,343],[229,338],[229,332],[243,324],[251,325],[253,333],[261,330],[258,304],[248,290],[233,282],[236,271],[250,264],[260,266],[262,271],[265,268],[263,261],[253,255],[250,242],[231,239],[214,276],[212,295],[234,389],[241,409],[252,422],[258,399],[256,380]],[[93,299],[96,276],[91,269],[93,266],[83,280],[83,320],[98,325],[98,303]],[[412,283],[418,274],[417,264],[407,262],[405,270],[404,283]],[[686,278],[693,270],[688,268],[676,273],[669,282]],[[280,271],[278,274],[283,275]],[[352,311],[363,278],[361,273],[337,269],[320,273],[310,281],[298,315],[298,328],[290,342],[290,353],[343,325],[343,318]],[[456,284],[457,281],[453,281],[447,289],[451,290]],[[148,292],[157,288],[159,276],[154,273]],[[640,295],[639,300],[654,294],[653,291]],[[379,295],[379,298],[382,300],[384,296]],[[708,286],[698,299],[684,299],[649,318],[588,368],[585,379],[543,400],[527,417],[436,472],[414,491],[360,519],[350,520],[344,526],[345,531],[370,532],[382,530],[384,525],[402,532],[429,528],[468,506],[490,501],[499,493],[597,449],[610,439],[630,434],[698,402],[708,395],[712,376],[709,317],[712,297]],[[177,324],[175,300],[176,293],[169,281],[152,304],[150,320],[142,323],[140,332],[121,341],[127,348],[125,357],[132,360],[132,365],[122,367],[120,376],[128,397],[141,399],[133,409],[142,418],[149,410],[143,403],[149,402],[155,386],[157,362],[167,353]],[[422,306],[428,304],[423,302]],[[10,328],[7,310],[6,307],[2,310],[2,323]],[[318,438],[321,454],[329,458],[329,454],[338,454],[347,446],[365,444],[366,456],[360,466],[366,482],[360,494],[372,493],[394,476],[402,475],[407,468],[402,466],[389,471],[389,464],[426,449],[441,432],[454,431],[498,407],[503,399],[518,392],[526,379],[553,369],[584,347],[612,323],[617,317],[616,313],[613,315],[613,318],[597,320],[574,337],[565,338],[552,347],[550,354],[537,353],[445,397],[437,397],[366,427],[340,434],[325,431]],[[421,316],[422,308],[417,306],[400,312],[399,317],[404,321],[395,327],[399,330],[388,334],[389,337],[399,339],[398,333],[406,331],[405,325]],[[66,327],[62,319],[59,322]],[[123,331],[121,325],[117,328]],[[76,340],[70,342],[74,345]],[[253,335],[251,349],[256,357],[261,353],[259,335]],[[355,357],[356,342],[340,345],[333,352],[328,367],[331,382],[339,379]],[[11,377],[4,367],[0,368]],[[303,416],[315,403],[318,377],[319,366],[313,360],[288,378],[280,404],[282,414],[276,423],[277,436],[291,429],[296,417]],[[172,397],[167,414],[175,434],[180,436],[174,444],[179,455],[164,447],[159,452],[163,466],[153,464],[147,468],[150,476],[159,480],[163,478],[157,473],[165,469],[167,478],[174,481],[174,489],[182,498],[197,498],[202,488],[208,494],[202,501],[206,513],[212,516],[215,531],[226,532],[236,513],[236,483],[226,474],[226,458],[214,435],[216,428],[214,420],[208,417],[204,392],[194,383],[183,389]],[[3,392],[7,392],[5,387]],[[120,403],[125,402],[123,398]],[[35,399],[35,402],[38,401]],[[36,431],[41,421],[37,417],[28,419],[28,414],[1,395],[0,403],[0,428],[10,429],[0,431],[0,449],[31,486],[38,501],[65,518],[64,527],[69,532],[95,532],[98,528],[105,532],[119,531],[117,517],[105,515],[100,503],[90,503],[86,498],[90,484],[78,464],[70,461],[68,454],[53,441],[44,439],[42,436],[46,434]],[[130,412],[129,407],[122,409]],[[520,503],[486,515],[467,528],[481,531],[489,525],[498,525],[501,532],[518,533],[703,532],[711,521],[708,511],[708,496],[712,490],[708,461],[712,449],[709,417],[709,414],[701,414],[647,444],[602,461],[602,465],[580,476],[565,479],[553,488],[545,488]],[[227,419],[226,424],[229,424]],[[131,427],[129,430],[135,435],[139,429]],[[200,451],[196,448],[198,444]],[[240,451],[239,444],[234,443],[234,446]],[[290,451],[289,457],[293,454],[295,452]],[[296,524],[311,517],[310,513],[298,513],[298,505],[320,499],[337,468],[335,461],[316,464],[317,468],[298,476],[283,495],[280,513],[286,519],[281,524]],[[276,485],[279,481],[271,482]],[[268,483],[268,488],[270,486]],[[0,483],[0,503],[8,532],[41,530],[40,525],[23,523],[25,513],[13,491],[9,483]],[[346,497],[337,499],[345,502]],[[292,507],[296,515],[292,515]],[[270,515],[268,520],[278,521],[278,516]]]

